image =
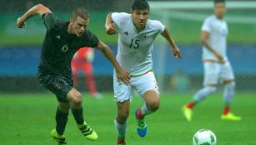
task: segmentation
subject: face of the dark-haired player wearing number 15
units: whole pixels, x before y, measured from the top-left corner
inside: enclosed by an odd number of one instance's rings
[[[133,24],[137,28],[144,28],[147,24],[149,12],[148,10],[134,10],[132,12]]]

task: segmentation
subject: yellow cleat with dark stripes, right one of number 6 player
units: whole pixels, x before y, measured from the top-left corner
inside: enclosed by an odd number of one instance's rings
[[[83,136],[85,138],[88,138],[91,141],[94,141],[98,138],[97,133],[88,126],[86,122],[83,122],[83,124],[78,124],[78,129],[83,133]]]

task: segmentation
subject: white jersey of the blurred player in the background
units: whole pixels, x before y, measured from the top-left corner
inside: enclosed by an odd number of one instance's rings
[[[202,31],[208,31],[208,44],[213,47],[224,60],[227,57],[227,36],[228,25],[223,19],[218,19],[215,15],[206,18],[203,22]],[[203,46],[203,60],[218,60],[211,51]]]

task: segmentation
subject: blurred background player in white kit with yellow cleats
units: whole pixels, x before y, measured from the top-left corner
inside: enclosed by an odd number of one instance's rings
[[[217,89],[218,82],[223,83],[224,109],[221,119],[240,120],[241,118],[230,112],[230,104],[233,99],[235,82],[233,69],[226,54],[228,26],[223,19],[227,11],[224,0],[214,1],[214,15],[206,18],[203,22],[201,32],[201,43],[203,44],[203,89],[193,96],[193,101],[183,106],[183,114],[188,121],[193,116],[193,107],[208,94]]]

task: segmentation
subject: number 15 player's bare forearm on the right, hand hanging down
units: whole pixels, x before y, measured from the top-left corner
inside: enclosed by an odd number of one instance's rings
[[[161,35],[168,41],[169,45],[172,47],[171,51],[173,52],[173,55],[175,56],[175,58],[181,59],[181,54],[178,49],[178,46],[176,46],[175,42],[173,41],[173,38],[170,35],[170,32],[168,31],[167,27],[164,27],[164,31]]]

